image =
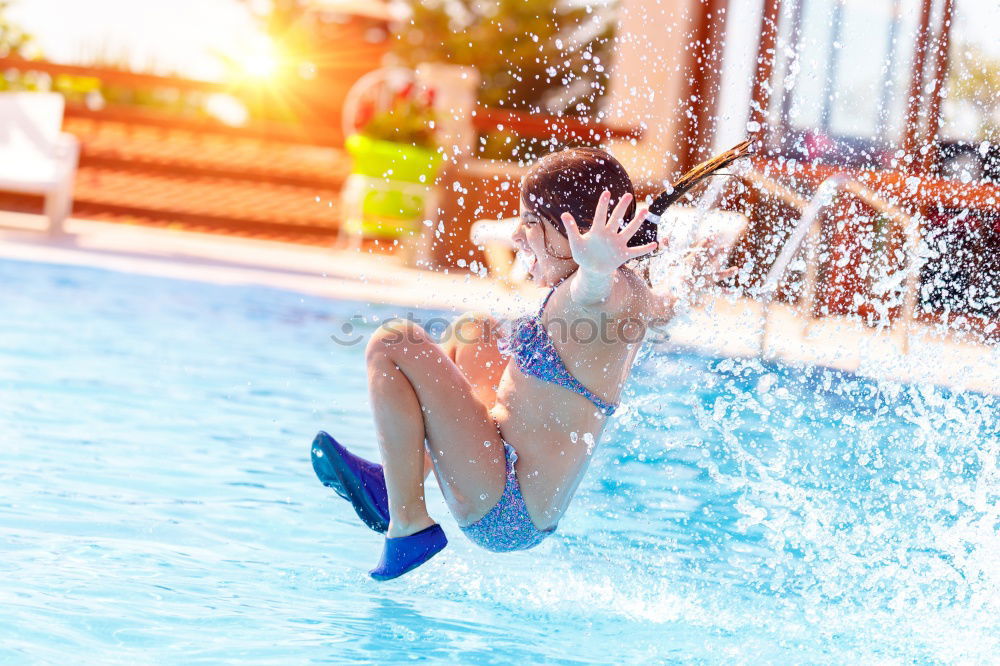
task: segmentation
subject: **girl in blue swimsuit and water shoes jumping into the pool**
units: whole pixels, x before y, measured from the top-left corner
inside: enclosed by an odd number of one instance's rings
[[[441,344],[401,319],[372,335],[368,386],[382,465],[324,432],[312,461],[386,535],[373,578],[401,576],[447,545],[424,502],[430,470],[462,531],[483,548],[532,548],[555,531],[646,327],[669,320],[682,297],[654,291],[633,265],[658,247],[657,225],[646,209],[636,214],[634,199],[625,169],[602,150],[543,157],[521,183],[513,235],[530,279],[549,287],[538,310],[506,336],[478,314],[459,317]],[[720,256],[703,245],[689,253],[681,291],[732,275],[719,270]]]

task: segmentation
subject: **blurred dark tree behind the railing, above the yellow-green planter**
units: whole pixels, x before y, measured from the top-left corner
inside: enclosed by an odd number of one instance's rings
[[[484,106],[529,113],[594,115],[608,82],[614,5],[595,11],[565,0],[408,0],[411,20],[395,34],[396,57],[472,65]],[[482,157],[548,152],[509,132],[480,137]]]

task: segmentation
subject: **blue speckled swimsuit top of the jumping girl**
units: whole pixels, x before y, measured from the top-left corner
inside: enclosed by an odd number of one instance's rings
[[[552,344],[552,338],[549,337],[545,324],[542,323],[545,304],[552,298],[555,290],[556,288],[552,287],[549,291],[548,296],[542,301],[542,307],[538,308],[538,314],[525,315],[514,321],[514,329],[510,336],[500,342],[500,351],[513,356],[517,369],[522,373],[579,393],[594,403],[605,416],[610,416],[618,405],[601,399],[570,374],[566,364],[559,357],[555,345]]]

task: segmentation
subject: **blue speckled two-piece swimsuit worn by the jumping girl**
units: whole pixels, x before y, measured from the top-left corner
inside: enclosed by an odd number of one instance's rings
[[[518,370],[524,374],[579,393],[594,403],[601,413],[609,416],[615,411],[616,405],[603,400],[570,374],[542,323],[545,304],[549,302],[554,292],[555,287],[545,297],[538,314],[522,317],[515,322],[512,335],[502,341],[500,350],[512,355]],[[463,527],[462,531],[487,550],[494,552],[527,550],[540,544],[545,537],[555,532],[555,528],[540,530],[531,522],[524,497],[521,495],[521,486],[517,482],[517,473],[514,471],[517,451],[507,442],[503,443],[503,448],[507,459],[507,482],[503,495],[489,513],[471,525]]]

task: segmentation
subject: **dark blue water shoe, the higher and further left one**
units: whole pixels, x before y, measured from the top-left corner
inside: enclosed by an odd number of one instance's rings
[[[381,465],[354,455],[322,430],[312,443],[312,461],[323,485],[350,502],[365,525],[383,534],[389,529],[389,495]]]

